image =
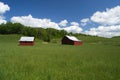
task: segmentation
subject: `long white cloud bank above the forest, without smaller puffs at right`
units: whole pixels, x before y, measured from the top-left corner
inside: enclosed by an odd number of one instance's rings
[[[52,22],[50,19],[33,18],[32,15],[12,17],[11,22],[13,23],[18,22],[25,26],[30,26],[30,27],[54,28],[58,30],[60,29],[58,24]]]

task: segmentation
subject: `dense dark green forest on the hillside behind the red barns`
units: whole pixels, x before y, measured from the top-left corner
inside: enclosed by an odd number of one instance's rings
[[[43,41],[50,42],[51,39],[61,38],[64,35],[82,35],[67,33],[65,30],[56,30],[53,28],[31,28],[20,23],[7,22],[0,25],[0,34],[21,34],[24,36],[34,36]]]

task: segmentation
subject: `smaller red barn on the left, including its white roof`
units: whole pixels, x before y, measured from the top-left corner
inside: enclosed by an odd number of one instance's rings
[[[34,45],[34,37],[21,37],[19,40],[19,45],[33,46]]]

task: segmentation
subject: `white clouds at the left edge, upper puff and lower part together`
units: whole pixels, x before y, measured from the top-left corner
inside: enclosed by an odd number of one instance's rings
[[[3,16],[3,14],[6,11],[9,11],[9,10],[10,10],[10,7],[7,4],[4,4],[3,2],[0,2],[0,24],[7,22],[5,20],[5,17]]]

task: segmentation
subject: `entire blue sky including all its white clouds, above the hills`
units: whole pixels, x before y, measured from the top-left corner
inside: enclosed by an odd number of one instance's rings
[[[0,0],[0,2],[3,3],[0,7],[5,5],[9,7],[0,9],[0,23],[11,21],[31,27],[52,27],[102,37],[120,36],[120,0]],[[1,12],[3,10],[5,11]]]

